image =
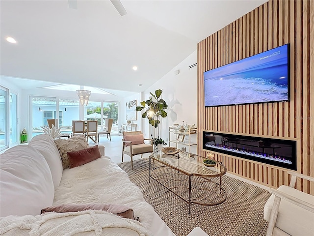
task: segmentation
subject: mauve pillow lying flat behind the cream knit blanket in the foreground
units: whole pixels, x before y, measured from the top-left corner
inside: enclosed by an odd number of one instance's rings
[[[131,209],[130,207],[127,207],[124,205],[118,205],[118,204],[99,204],[99,203],[62,204],[62,205],[46,207],[41,210],[41,214],[46,213],[46,212],[52,212],[52,211],[62,213],[62,212],[77,212],[77,211],[83,211],[83,210],[104,210],[115,215],[120,215],[124,218],[135,220],[133,209]]]

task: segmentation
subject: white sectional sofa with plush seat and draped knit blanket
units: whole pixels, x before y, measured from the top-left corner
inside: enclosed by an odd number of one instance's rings
[[[0,235],[174,235],[109,157],[62,170],[54,141],[42,134],[1,154],[0,168]],[[100,210],[41,214],[61,204],[124,205],[139,221]]]

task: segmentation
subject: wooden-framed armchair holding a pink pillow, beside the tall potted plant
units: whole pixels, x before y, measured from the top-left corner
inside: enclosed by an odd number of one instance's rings
[[[149,144],[145,143],[145,141],[150,141]],[[122,139],[122,162],[123,155],[127,154],[131,157],[131,168],[133,170],[133,156],[141,154],[143,157],[144,153],[153,152],[153,140],[152,139],[144,139],[144,135],[142,131],[131,131],[131,132],[123,132]]]

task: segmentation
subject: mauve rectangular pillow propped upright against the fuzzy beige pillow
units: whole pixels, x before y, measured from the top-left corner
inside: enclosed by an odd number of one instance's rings
[[[70,162],[70,168],[84,165],[102,156],[99,151],[98,145],[79,151],[68,151],[67,155]]]

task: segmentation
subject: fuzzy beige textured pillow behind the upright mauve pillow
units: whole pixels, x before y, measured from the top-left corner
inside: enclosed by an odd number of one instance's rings
[[[84,135],[73,136],[69,139],[57,139],[54,140],[55,145],[60,151],[63,170],[70,167],[69,158],[67,156],[68,151],[78,151],[88,148],[88,143]]]

